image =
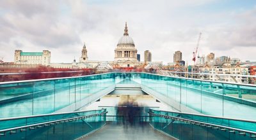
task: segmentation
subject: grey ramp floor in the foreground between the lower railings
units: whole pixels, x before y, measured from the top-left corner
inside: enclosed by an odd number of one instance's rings
[[[161,132],[154,130],[148,123],[138,124],[138,125],[130,125],[130,124],[122,124],[116,122],[108,122],[106,126],[102,129],[98,130],[90,134],[89,136],[84,137],[83,139],[104,139],[104,140],[150,140],[150,139],[174,139],[172,137],[168,137]]]

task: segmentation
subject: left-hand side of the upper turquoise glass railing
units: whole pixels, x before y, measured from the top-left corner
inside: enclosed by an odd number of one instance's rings
[[[0,118],[74,111],[114,88],[113,73],[0,83]]]

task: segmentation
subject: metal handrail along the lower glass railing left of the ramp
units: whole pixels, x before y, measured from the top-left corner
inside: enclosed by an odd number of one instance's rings
[[[43,122],[43,123],[35,123],[35,124],[32,124],[32,125],[24,125],[24,126],[21,126],[21,127],[13,127],[13,128],[10,128],[10,129],[3,129],[3,130],[0,130],[0,133],[4,133],[5,135],[5,132],[8,132],[10,131],[12,133],[12,130],[18,130],[20,129],[20,131],[24,131],[22,129],[24,128],[29,128],[31,129],[31,127],[34,127],[33,129],[35,129],[35,127],[38,127],[38,126],[41,126],[41,125],[44,125],[44,126],[49,126],[49,125],[55,125],[58,123],[63,123],[65,121],[68,120],[68,122],[72,122],[72,121],[75,121],[75,120],[81,120],[83,118],[90,118],[92,116],[99,116],[99,115],[103,115],[103,114],[106,114],[108,113],[108,111],[105,111],[105,112],[102,112],[102,113],[95,113],[95,114],[92,114],[92,115],[83,115],[83,116],[76,116],[76,117],[72,117],[72,118],[64,118],[64,119],[60,119],[60,120],[53,120],[53,121],[50,121],[50,122]],[[17,131],[16,131],[17,132]],[[3,134],[0,136],[3,136]]]

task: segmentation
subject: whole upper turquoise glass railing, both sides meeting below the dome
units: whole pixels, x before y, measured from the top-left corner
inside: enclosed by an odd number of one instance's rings
[[[141,85],[144,92],[177,111],[251,120],[256,116],[255,85],[113,72],[0,83],[0,118],[53,113],[72,104],[86,106],[115,90],[116,84]]]

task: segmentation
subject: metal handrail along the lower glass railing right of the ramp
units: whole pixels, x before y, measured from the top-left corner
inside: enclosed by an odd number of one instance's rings
[[[244,132],[244,133],[247,133],[247,134],[250,134],[251,137],[255,137],[256,136],[256,132],[254,131],[250,131],[250,130],[243,130],[243,129],[236,129],[234,127],[226,127],[226,126],[223,126],[223,125],[216,125],[214,123],[205,123],[205,122],[200,122],[200,121],[195,121],[195,120],[190,120],[190,119],[187,119],[187,118],[180,118],[180,117],[177,117],[177,116],[168,116],[168,115],[158,115],[156,113],[150,113],[148,112],[150,115],[152,116],[159,116],[159,117],[164,117],[164,118],[171,118],[173,120],[179,120],[181,122],[187,122],[187,123],[192,123],[192,124],[195,124],[195,125],[200,125],[200,126],[204,126],[204,127],[211,127],[212,129],[218,129],[218,130],[226,130],[228,129],[229,132]],[[253,134],[253,135],[252,135]]]

